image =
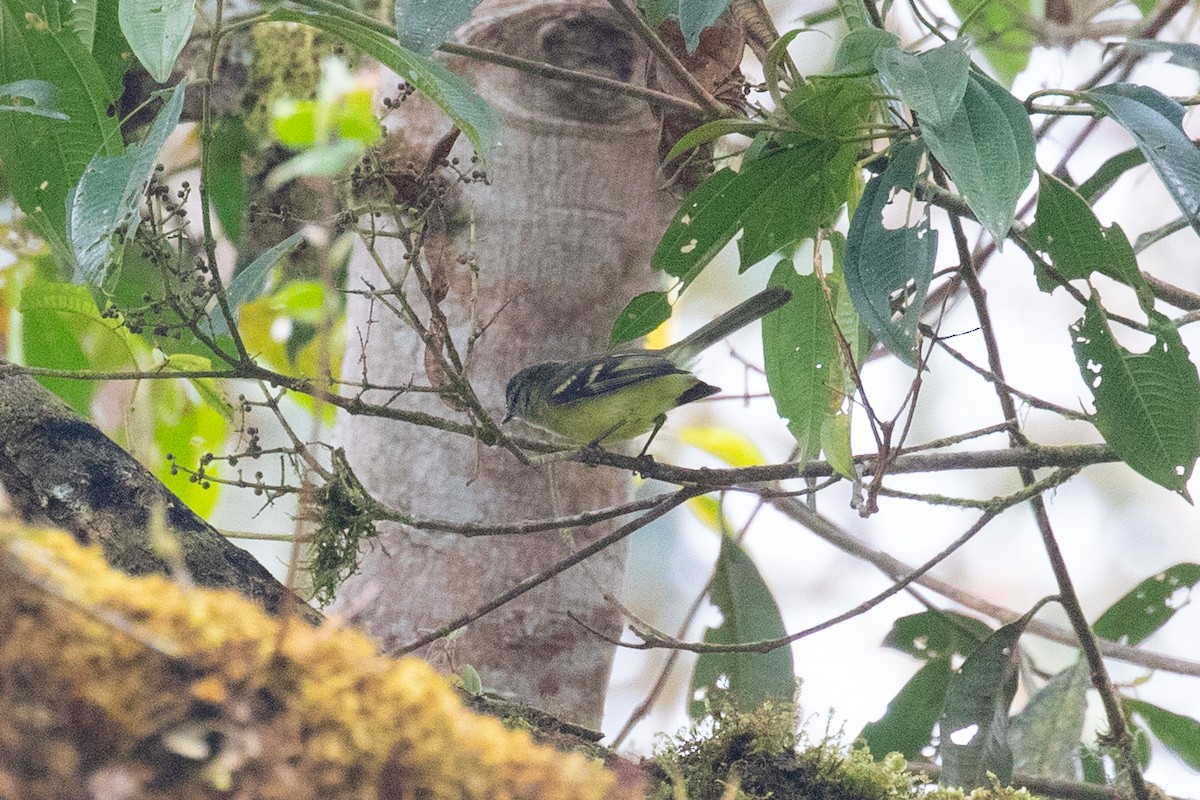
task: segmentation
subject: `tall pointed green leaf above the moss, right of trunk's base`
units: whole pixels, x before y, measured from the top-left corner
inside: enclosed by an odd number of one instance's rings
[[[709,628],[704,640],[742,644],[786,636],[779,606],[763,583],[758,569],[742,547],[721,537],[721,554],[713,572],[713,603],[725,618]],[[752,711],[767,700],[791,703],[796,692],[792,650],[787,645],[770,652],[704,652],[691,678],[695,699],[692,718],[704,715],[703,698],[722,690],[736,709]]]

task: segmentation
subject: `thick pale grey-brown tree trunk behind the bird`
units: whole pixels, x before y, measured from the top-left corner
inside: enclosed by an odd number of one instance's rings
[[[644,80],[646,53],[605,2],[485,2],[463,38]],[[474,318],[486,331],[468,374],[499,420],[505,384],[520,367],[605,349],[624,305],[655,284],[649,257],[673,200],[659,190],[658,127],[644,102],[487,64],[455,66],[469,70],[504,127],[490,185],[467,187],[458,206],[474,233],[478,284],[468,267],[445,259],[449,295],[442,308],[462,348],[474,300]],[[427,154],[428,143],[448,130],[444,119],[409,118],[402,128],[392,126],[391,136]],[[466,236],[452,247],[455,255],[468,252]],[[400,255],[392,253],[385,260],[398,275]],[[361,253],[355,261],[352,288],[364,288],[364,279],[379,287],[373,261]],[[406,287],[413,289],[410,278]],[[377,384],[428,383],[425,345],[380,306],[352,299],[347,339],[344,377],[365,371]],[[395,402],[450,413],[428,393]],[[546,468],[523,467],[509,452],[463,435],[376,419],[347,420],[338,433],[367,489],[419,516],[498,524],[601,507],[629,492],[626,475],[558,464],[551,479]],[[361,572],[343,587],[335,608],[366,624],[385,645],[402,645],[611,529],[463,539],[391,525],[368,546]],[[624,558],[623,548],[601,553],[425,655],[444,669],[470,664],[488,688],[598,726],[612,648],[584,625],[619,632],[619,615],[602,595],[619,591]]]

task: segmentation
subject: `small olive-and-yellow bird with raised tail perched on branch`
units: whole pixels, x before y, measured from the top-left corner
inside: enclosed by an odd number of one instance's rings
[[[696,357],[791,299],[782,287],[763,289],[661,350],[623,348],[526,367],[509,380],[504,421],[521,417],[576,445],[624,441],[649,431],[644,456],[667,411],[721,391],[691,373]]]

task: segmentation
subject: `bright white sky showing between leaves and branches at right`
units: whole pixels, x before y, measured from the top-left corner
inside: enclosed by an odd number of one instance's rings
[[[899,8],[900,4],[896,4]],[[812,6],[814,8],[816,6]],[[811,8],[796,6],[788,11],[784,4],[773,4],[772,11],[781,30]],[[1182,24],[1181,24],[1182,23]],[[1172,37],[1186,38],[1184,31],[1195,26],[1184,11]],[[905,44],[911,44],[912,29],[898,31]],[[803,34],[792,44],[793,56],[805,73],[820,72],[832,58],[833,38],[821,34]],[[1072,88],[1092,74],[1100,55],[1099,47],[1085,44],[1066,50],[1039,50],[1032,68],[1018,79],[1014,92],[1025,97],[1042,88]],[[1130,78],[1170,95],[1192,95],[1196,91],[1195,73],[1164,64],[1165,56],[1152,56]],[[752,67],[748,65],[748,71]],[[1037,125],[1040,119],[1034,119]],[[1086,120],[1066,120],[1038,148],[1038,162],[1052,169],[1072,133]],[[1186,120],[1189,133],[1200,133],[1194,113]],[[1070,172],[1082,180],[1105,158],[1132,146],[1129,136],[1116,125],[1105,122],[1098,134],[1073,158]],[[1148,167],[1133,170],[1108,193],[1097,206],[1102,223],[1120,222],[1134,240],[1139,234],[1157,228],[1178,216],[1158,178]],[[952,266],[956,258],[953,239],[942,227],[942,247],[938,267]],[[1164,279],[1200,290],[1200,248],[1190,231],[1177,233],[1140,254],[1139,264]],[[770,265],[754,267],[745,276],[737,276],[736,254],[727,251],[724,263],[714,264],[703,278],[689,290],[688,303],[679,323],[679,336],[732,305],[732,293],[749,295],[761,288]],[[1034,285],[1027,259],[1015,247],[1006,248],[994,258],[985,272],[984,284],[1002,348],[1004,368],[1012,385],[1051,399],[1068,408],[1091,410],[1090,395],[1079,377],[1067,326],[1081,317],[1081,308],[1058,290],[1054,295],[1040,293]],[[1098,283],[1106,305],[1118,305],[1114,289]],[[1122,313],[1136,315],[1132,296],[1129,308]],[[977,321],[968,303],[952,309],[943,333],[970,331]],[[1121,337],[1118,332],[1118,337]],[[678,338],[678,336],[672,336]],[[1132,337],[1121,337],[1127,347],[1139,347]],[[1200,353],[1200,326],[1183,329],[1184,343],[1193,355]],[[984,363],[980,337],[965,335],[953,345]],[[733,339],[736,350],[758,361],[760,345],[756,332],[743,332]],[[1144,347],[1144,343],[1141,344]],[[727,348],[713,348],[700,369],[710,383],[739,392],[744,371],[726,359]],[[1001,421],[1000,405],[994,390],[976,379],[966,368],[946,356],[935,356],[929,365],[922,390],[918,415],[907,444],[994,425]],[[884,410],[894,409],[907,391],[913,372],[893,359],[872,362],[865,379],[872,402]],[[784,425],[774,419],[769,401],[746,409],[739,402],[702,403],[696,413],[706,423],[714,414],[734,429],[752,435],[766,451],[768,459],[787,456],[791,438]],[[690,411],[691,409],[689,409]],[[1021,409],[1026,432],[1042,444],[1099,441],[1099,435],[1086,423],[1067,423],[1057,417]],[[671,428],[686,425],[679,411],[672,415],[655,444],[660,458],[683,463],[715,463],[703,455],[671,445]],[[695,420],[696,417],[689,417]],[[854,451],[874,452],[866,426],[856,426]],[[1003,447],[1003,437],[989,437],[973,446]],[[956,497],[990,498],[1007,494],[1019,487],[1015,470],[986,470],[965,474],[941,473],[930,476],[902,476],[887,481],[894,488],[937,492]],[[1193,495],[1200,497],[1200,480],[1190,485]],[[818,507],[847,530],[862,536],[871,547],[887,551],[896,558],[917,565],[941,551],[973,522],[978,512],[931,509],[906,500],[881,499],[881,511],[863,521],[848,505],[848,493],[839,487],[820,495]],[[1121,464],[1091,467],[1066,487],[1046,497],[1049,513],[1063,549],[1076,590],[1084,599],[1090,619],[1094,619],[1111,602],[1154,572],[1180,561],[1200,561],[1200,512],[1177,495],[1151,483]],[[749,498],[737,498],[731,516],[740,522],[752,509]],[[740,511],[739,511],[740,510]],[[740,516],[739,516],[740,515]],[[854,561],[821,542],[804,529],[766,512],[751,527],[748,546],[758,569],[770,585],[782,608],[790,631],[798,631],[842,613],[889,585],[874,567]],[[628,602],[646,620],[674,632],[694,593],[707,578],[716,555],[716,536],[698,524],[686,511],[678,511],[664,524],[638,534],[634,563],[628,582]],[[662,565],[667,567],[664,569]],[[1024,612],[1045,595],[1056,594],[1054,576],[1046,564],[1040,537],[1027,505],[1007,511],[988,525],[962,551],[950,557],[935,571],[938,577],[960,585],[976,595]],[[942,608],[953,608],[931,593],[923,593]],[[803,680],[800,703],[810,727],[820,735],[827,727],[844,728],[847,736],[856,735],[866,722],[883,714],[888,700],[916,672],[919,663],[900,652],[880,646],[892,622],[905,614],[923,610],[907,596],[892,599],[866,615],[842,624],[797,643],[793,657]],[[1066,625],[1056,606],[1045,608],[1039,619]],[[694,625],[689,638],[698,639],[704,625],[719,624],[719,614],[708,609],[700,624]],[[1168,626],[1148,639],[1150,650],[1195,658],[1196,631],[1200,630],[1200,609],[1192,604]],[[1026,637],[1039,668],[1057,670],[1070,663],[1070,650],[1062,645]],[[616,733],[634,705],[641,702],[649,681],[658,674],[662,654],[622,651],[614,668],[612,693],[605,721],[605,732]],[[635,729],[626,744],[638,751],[653,746],[659,732],[676,732],[686,724],[684,714],[692,657],[684,655],[684,668],[665,692],[656,712]],[[1150,675],[1150,672],[1111,662],[1114,679],[1128,684]],[[1022,687],[1024,692],[1024,687]],[[1169,674],[1154,674],[1133,690],[1135,696],[1177,712],[1200,717],[1200,682]],[[1019,700],[1021,702],[1020,697]],[[832,710],[832,724],[829,724]],[[1099,715],[1097,716],[1099,720]],[[1147,777],[1168,792],[1188,796],[1200,795],[1200,775],[1189,770],[1168,752],[1156,750]]]

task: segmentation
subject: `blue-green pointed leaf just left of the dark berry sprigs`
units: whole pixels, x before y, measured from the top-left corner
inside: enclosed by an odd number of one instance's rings
[[[170,92],[140,144],[119,156],[96,154],[68,196],[67,239],[79,279],[103,288],[119,269],[120,252],[142,222],[142,197],[158,151],[184,110],[184,89],[180,82]]]

